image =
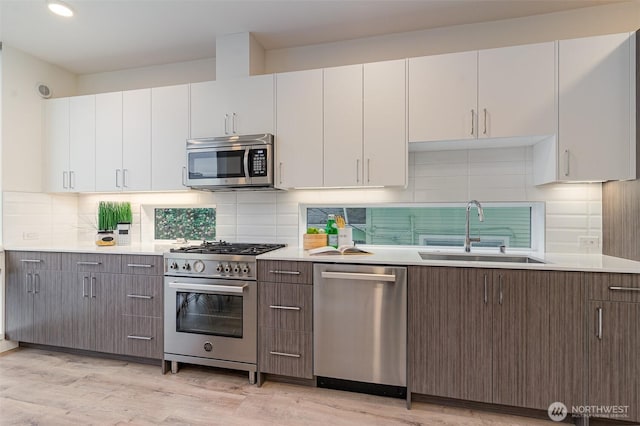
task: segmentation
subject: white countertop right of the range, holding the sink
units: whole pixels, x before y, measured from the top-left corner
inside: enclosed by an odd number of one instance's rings
[[[502,263],[451,260],[423,260],[419,252],[429,252],[424,248],[389,248],[389,247],[361,247],[372,254],[367,255],[314,255],[297,247],[285,247],[258,256],[263,260],[293,260],[319,263],[363,263],[375,265],[419,265],[419,266],[452,266],[468,268],[502,268],[502,269],[531,269],[544,271],[585,271],[585,272],[618,272],[640,274],[640,262],[604,256],[601,254],[554,254],[543,256],[523,252],[508,251],[507,255],[527,254],[543,260],[546,263]],[[448,251],[447,251],[448,252]],[[453,251],[451,251],[453,252]],[[461,251],[457,251],[461,253]],[[477,251],[476,254],[489,254]],[[496,254],[496,253],[491,253]]]

